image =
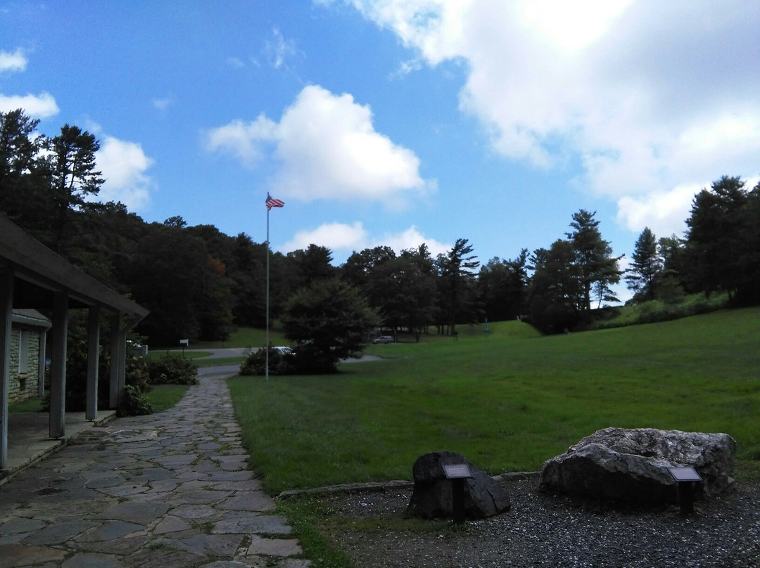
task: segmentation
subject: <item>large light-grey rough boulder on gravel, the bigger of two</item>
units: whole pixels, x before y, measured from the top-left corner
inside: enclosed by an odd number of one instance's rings
[[[605,428],[543,464],[539,487],[604,500],[677,503],[671,466],[691,466],[713,495],[733,483],[736,441],[728,434]]]

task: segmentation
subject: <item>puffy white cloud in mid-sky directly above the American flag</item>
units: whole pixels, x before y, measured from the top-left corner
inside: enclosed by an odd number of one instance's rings
[[[420,159],[375,131],[369,106],[353,96],[305,87],[280,122],[264,115],[232,121],[206,135],[207,150],[254,166],[268,147],[279,167],[270,190],[302,201],[378,200],[390,207],[402,194],[425,194],[435,181],[420,176]]]

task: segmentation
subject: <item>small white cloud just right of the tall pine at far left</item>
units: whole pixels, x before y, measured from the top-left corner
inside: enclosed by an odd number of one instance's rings
[[[106,181],[97,199],[121,201],[129,210],[140,210],[150,200],[153,181],[146,175],[153,159],[140,144],[106,136],[96,154],[97,167]]]

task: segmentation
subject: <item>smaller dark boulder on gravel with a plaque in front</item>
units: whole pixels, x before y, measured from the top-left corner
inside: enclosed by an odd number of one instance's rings
[[[441,519],[453,515],[451,479],[447,479],[443,465],[466,463],[472,478],[464,479],[464,516],[466,519],[484,519],[509,510],[509,492],[493,481],[476,465],[457,452],[433,452],[420,456],[414,462],[414,490],[407,513],[423,519]]]

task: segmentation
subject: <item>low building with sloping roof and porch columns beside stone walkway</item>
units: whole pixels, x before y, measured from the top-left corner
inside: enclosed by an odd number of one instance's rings
[[[20,360],[16,361],[16,370],[26,358],[27,383],[24,387],[27,389],[30,369],[32,374],[35,370],[30,361],[30,336],[26,336],[27,346],[24,348],[23,322],[14,326],[14,311],[29,314],[25,311],[36,310],[51,314],[47,342],[50,358],[49,437],[60,438],[65,436],[68,311],[74,308],[87,310],[86,414],[88,420],[95,420],[101,315],[108,315],[110,321],[109,408],[116,409],[124,390],[126,336],[148,311],[103,286],[0,215],[0,470],[8,465],[8,436],[12,435],[8,432],[8,403],[11,401],[11,370],[14,368],[11,353],[17,327]],[[39,366],[39,359],[36,364]],[[39,383],[37,388],[39,390]]]

